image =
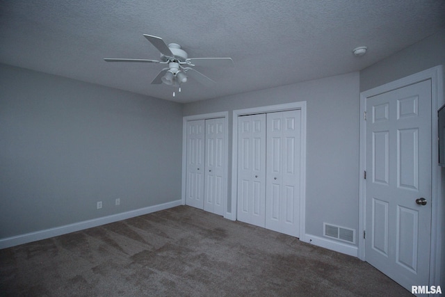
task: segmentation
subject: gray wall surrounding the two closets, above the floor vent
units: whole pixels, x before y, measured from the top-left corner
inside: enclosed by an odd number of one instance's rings
[[[358,230],[359,74],[358,72],[193,102],[184,116],[307,101],[306,231],[323,236],[323,222]],[[229,143],[229,189],[232,143]]]

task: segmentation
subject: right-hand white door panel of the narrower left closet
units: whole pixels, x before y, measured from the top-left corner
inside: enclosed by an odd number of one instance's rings
[[[205,120],[204,210],[224,214],[225,118]]]

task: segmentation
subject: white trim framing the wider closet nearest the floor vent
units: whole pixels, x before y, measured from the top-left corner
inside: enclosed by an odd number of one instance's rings
[[[300,174],[300,240],[305,237],[305,213],[306,213],[306,102],[292,102],[270,106],[254,107],[252,109],[238,109],[233,111],[232,127],[232,209],[227,213],[227,218],[236,220],[236,206],[238,205],[238,116],[252,115],[255,113],[270,113],[275,111],[301,110],[301,174]]]

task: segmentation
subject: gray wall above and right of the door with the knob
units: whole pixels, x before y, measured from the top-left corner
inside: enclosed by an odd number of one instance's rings
[[[360,90],[369,90],[437,65],[444,65],[445,67],[445,30],[362,70],[360,72]],[[437,109],[445,103],[445,98],[439,98],[438,103]],[[442,213],[443,220],[439,222],[442,228],[442,240],[439,240],[442,245],[442,261],[439,259],[438,263],[442,264],[441,284],[445,286],[445,168],[441,168],[441,174],[442,197],[439,198],[442,201],[442,209],[439,212]]]

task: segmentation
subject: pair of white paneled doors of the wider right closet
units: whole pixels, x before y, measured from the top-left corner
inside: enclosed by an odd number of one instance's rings
[[[238,117],[237,217],[300,236],[301,111]]]

